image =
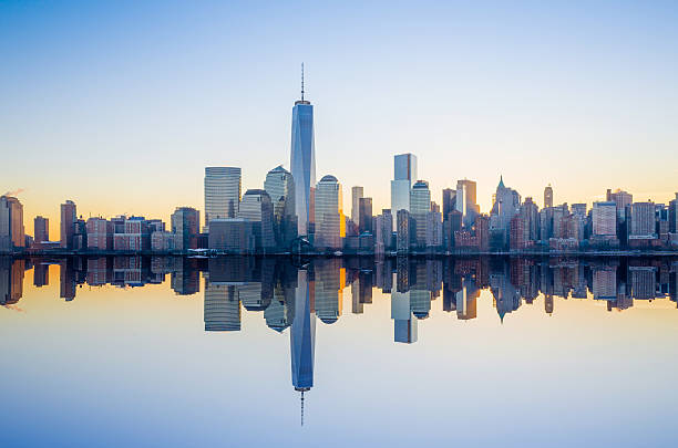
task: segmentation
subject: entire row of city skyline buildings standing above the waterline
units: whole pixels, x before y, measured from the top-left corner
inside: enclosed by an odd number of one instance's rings
[[[177,208],[171,229],[157,219],[78,217],[75,204],[61,206],[61,238],[49,239],[45,218],[34,220],[34,236],[23,229],[22,206],[0,197],[0,250],[218,253],[458,253],[486,251],[578,251],[678,249],[678,194],[669,205],[636,201],[622,190],[607,190],[605,201],[554,205],[551,186],[544,204],[504,185],[487,213],[476,202],[476,183],[462,179],[432,198],[418,176],[413,154],[394,156],[391,207],[378,213],[363,187],[351,188],[350,216],[343,212],[342,186],[332,175],[316,179],[314,106],[292,107],[290,171],[278,166],[263,188],[242,191],[238,167],[205,168],[205,221],[189,207]]]

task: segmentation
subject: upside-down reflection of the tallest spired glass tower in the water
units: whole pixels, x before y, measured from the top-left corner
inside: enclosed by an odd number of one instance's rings
[[[297,272],[295,316],[289,333],[292,386],[301,393],[301,425],[304,425],[304,393],[314,387],[314,354],[316,350],[316,312],[314,309],[312,271]]]

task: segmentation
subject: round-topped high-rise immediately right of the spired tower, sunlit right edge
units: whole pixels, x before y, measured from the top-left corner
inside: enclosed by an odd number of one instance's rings
[[[341,184],[332,175],[320,179],[316,187],[316,237],[318,248],[340,249],[346,237]]]

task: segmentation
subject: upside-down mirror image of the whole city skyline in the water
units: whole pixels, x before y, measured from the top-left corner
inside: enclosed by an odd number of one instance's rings
[[[544,295],[544,312],[556,312],[554,298],[604,301],[608,311],[634,302],[678,299],[678,261],[670,258],[448,258],[315,259],[295,265],[287,258],[0,258],[0,304],[16,308],[24,272],[33,270],[37,288],[50,282],[49,265],[60,267],[60,298],[72,301],[79,285],[119,288],[163,283],[177,295],[199,292],[204,278],[207,332],[242,330],[243,309],[261,313],[275,332],[290,327],[291,383],[304,394],[314,386],[316,316],[332,325],[342,316],[343,291],[350,286],[350,311],[362,314],[378,288],[390,294],[393,341],[412,344],[418,327],[434,308],[458,320],[477,317],[482,290],[489,290],[500,322]],[[348,295],[348,291],[347,291]]]

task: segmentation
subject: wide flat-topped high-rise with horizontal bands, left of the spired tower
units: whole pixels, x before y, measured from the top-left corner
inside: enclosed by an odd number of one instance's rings
[[[212,166],[205,168],[205,227],[209,231],[213,219],[235,218],[242,195],[242,169]]]

